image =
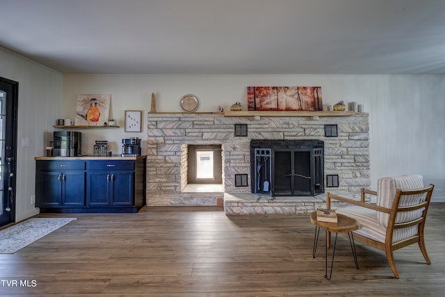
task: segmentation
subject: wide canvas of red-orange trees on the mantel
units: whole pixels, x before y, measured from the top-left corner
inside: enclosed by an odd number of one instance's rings
[[[321,87],[248,87],[249,111],[323,111]]]

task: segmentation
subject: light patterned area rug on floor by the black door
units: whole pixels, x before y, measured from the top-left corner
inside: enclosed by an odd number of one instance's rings
[[[0,254],[13,254],[77,218],[29,218],[0,231]]]

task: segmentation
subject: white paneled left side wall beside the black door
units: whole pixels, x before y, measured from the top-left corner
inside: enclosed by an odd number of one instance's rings
[[[16,221],[35,214],[34,156],[42,156],[52,138],[54,115],[62,107],[62,74],[0,48],[0,77],[19,82],[17,127]],[[22,147],[22,138],[30,146]]]

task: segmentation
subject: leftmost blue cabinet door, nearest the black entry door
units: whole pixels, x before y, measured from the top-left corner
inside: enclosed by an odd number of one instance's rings
[[[62,172],[40,171],[38,186],[38,207],[58,207],[62,204]]]

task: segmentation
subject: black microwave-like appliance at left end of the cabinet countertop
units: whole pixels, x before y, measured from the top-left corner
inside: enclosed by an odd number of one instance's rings
[[[53,156],[81,156],[81,154],[81,132],[54,131]]]

